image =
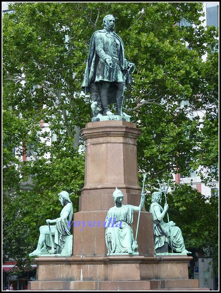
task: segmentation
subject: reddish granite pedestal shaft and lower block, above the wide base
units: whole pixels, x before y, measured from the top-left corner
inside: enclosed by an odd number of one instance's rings
[[[85,177],[74,221],[84,221],[87,226],[83,230],[74,227],[73,254],[104,256],[107,253],[105,228],[98,227],[97,223],[104,221],[108,209],[114,206],[115,188],[121,189],[124,205],[140,205],[137,138],[141,130],[135,123],[126,121],[100,121],[87,123],[80,134],[86,146]],[[131,225],[134,235],[137,219],[138,212],[134,212]],[[93,221],[95,226],[90,228],[89,222]],[[153,255],[152,214],[142,211],[139,226],[138,251]]]

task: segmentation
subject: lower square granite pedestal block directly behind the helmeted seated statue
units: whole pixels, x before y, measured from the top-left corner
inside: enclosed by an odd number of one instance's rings
[[[102,225],[99,227],[97,224],[105,220],[107,210],[97,211],[80,211],[74,215],[74,221],[86,223],[86,227],[82,225],[74,228],[74,245],[73,255],[100,255],[104,256],[107,253],[105,243],[105,228]],[[134,235],[137,229],[138,212],[134,212],[134,222],[131,225]],[[88,221],[88,222],[87,222]],[[94,227],[89,227],[93,226]],[[149,212],[141,211],[140,224],[138,234],[138,251],[142,255],[153,255],[153,220],[152,214]]]

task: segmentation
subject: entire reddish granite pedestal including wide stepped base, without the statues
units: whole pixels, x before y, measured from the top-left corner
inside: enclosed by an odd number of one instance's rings
[[[29,289],[197,290],[198,280],[188,279],[192,257],[155,254],[152,214],[145,210],[140,216],[139,255],[106,256],[105,228],[98,223],[114,206],[115,188],[122,191],[123,204],[140,204],[137,138],[141,130],[134,123],[112,120],[87,123],[80,133],[86,146],[85,178],[79,212],[74,214],[74,221],[81,225],[73,227],[73,255],[36,258],[37,281],[29,282]],[[137,220],[138,212],[134,212],[134,235]]]

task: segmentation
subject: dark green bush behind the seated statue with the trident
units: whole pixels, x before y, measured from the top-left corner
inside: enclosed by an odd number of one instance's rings
[[[211,201],[214,199],[206,198],[186,184],[175,185],[173,189],[173,193],[168,195],[173,221],[186,235],[185,245],[188,249],[202,251],[212,244],[211,239],[215,240],[218,229],[218,205],[212,206]],[[209,218],[202,216],[205,214],[209,214]],[[214,224],[211,225],[212,223]]]

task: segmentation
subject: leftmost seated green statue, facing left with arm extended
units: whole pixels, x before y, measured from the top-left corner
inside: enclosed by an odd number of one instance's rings
[[[29,256],[33,255],[40,255],[40,254],[45,254],[45,248],[46,251],[50,254],[57,254],[61,253],[64,244],[65,244],[65,236],[70,235],[70,225],[68,225],[68,222],[72,221],[73,218],[73,207],[72,207],[72,202],[69,198],[69,194],[67,191],[62,191],[59,193],[59,200],[61,205],[63,206],[63,209],[60,212],[60,217],[54,220],[47,219],[46,223],[47,224],[53,224],[55,225],[50,225],[50,231],[49,231],[49,225],[48,226],[40,226],[40,236],[39,236],[39,241],[38,245],[35,251],[29,253]],[[49,235],[54,235],[54,244],[48,243]],[[44,247],[42,248],[42,246]],[[53,246],[53,247],[52,247]],[[54,249],[56,247],[56,249]]]

